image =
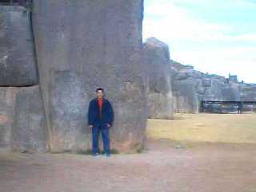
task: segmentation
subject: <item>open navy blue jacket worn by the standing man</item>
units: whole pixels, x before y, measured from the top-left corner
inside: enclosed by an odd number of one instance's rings
[[[88,125],[94,127],[106,127],[106,124],[112,126],[114,121],[114,112],[109,100],[102,100],[102,119],[99,116],[98,99],[90,100],[88,111]]]

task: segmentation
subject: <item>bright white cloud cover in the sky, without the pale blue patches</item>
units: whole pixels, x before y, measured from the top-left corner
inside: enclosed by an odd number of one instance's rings
[[[238,74],[241,80],[256,83],[256,32],[231,35],[233,25],[206,22],[191,17],[181,2],[206,3],[207,0],[151,0],[146,6],[143,37],[157,37],[170,45],[171,58],[194,65],[202,72]],[[239,6],[252,2],[233,1]],[[210,47],[209,44],[214,44]],[[208,46],[206,46],[208,44]],[[248,46],[246,46],[248,44]],[[249,46],[250,44],[250,46]],[[187,45],[187,46],[186,46]],[[234,47],[235,45],[235,47]]]

